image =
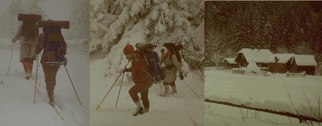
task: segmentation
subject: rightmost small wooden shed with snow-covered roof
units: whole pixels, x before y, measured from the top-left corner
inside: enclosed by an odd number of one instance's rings
[[[317,64],[313,55],[294,55],[291,64],[291,73],[300,73],[305,71],[306,75],[315,75],[315,67]]]

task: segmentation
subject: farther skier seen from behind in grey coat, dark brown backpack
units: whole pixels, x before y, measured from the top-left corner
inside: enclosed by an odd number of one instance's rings
[[[26,79],[28,80],[32,74],[33,60],[36,60],[35,46],[39,29],[37,27],[37,20],[41,20],[41,15],[19,14],[18,20],[23,21],[19,26],[15,37],[11,40],[20,43],[20,62],[22,62]]]

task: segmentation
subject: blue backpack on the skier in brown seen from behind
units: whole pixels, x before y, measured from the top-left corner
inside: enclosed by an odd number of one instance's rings
[[[49,65],[65,65],[65,50],[63,47],[63,35],[58,26],[47,26],[43,31],[44,61]]]

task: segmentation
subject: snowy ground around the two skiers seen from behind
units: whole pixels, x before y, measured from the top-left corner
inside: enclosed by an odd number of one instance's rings
[[[15,43],[9,75],[6,76],[12,49],[9,39],[0,39],[0,125],[89,125],[89,52],[88,42],[67,40],[68,65],[75,89],[83,106],[80,106],[64,66],[57,73],[54,101],[62,120],[48,104],[42,67],[38,67],[37,94],[34,104],[35,80],[26,80],[19,61],[20,43]],[[40,57],[40,55],[39,55]],[[39,58],[40,61],[40,58]],[[33,65],[33,78],[36,73]],[[17,72],[16,72],[17,71]]]

